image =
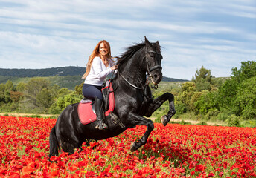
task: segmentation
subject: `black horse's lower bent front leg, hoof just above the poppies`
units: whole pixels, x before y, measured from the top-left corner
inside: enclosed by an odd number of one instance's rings
[[[143,116],[138,116],[137,114],[130,113],[129,114],[129,122],[132,125],[146,125],[147,131],[144,133],[144,135],[141,137],[141,139],[138,140],[138,142],[133,142],[132,146],[130,148],[131,151],[138,150],[142,145],[145,145],[148,139],[148,136],[150,136],[151,131],[154,129],[154,123],[150,119],[146,119]]]

